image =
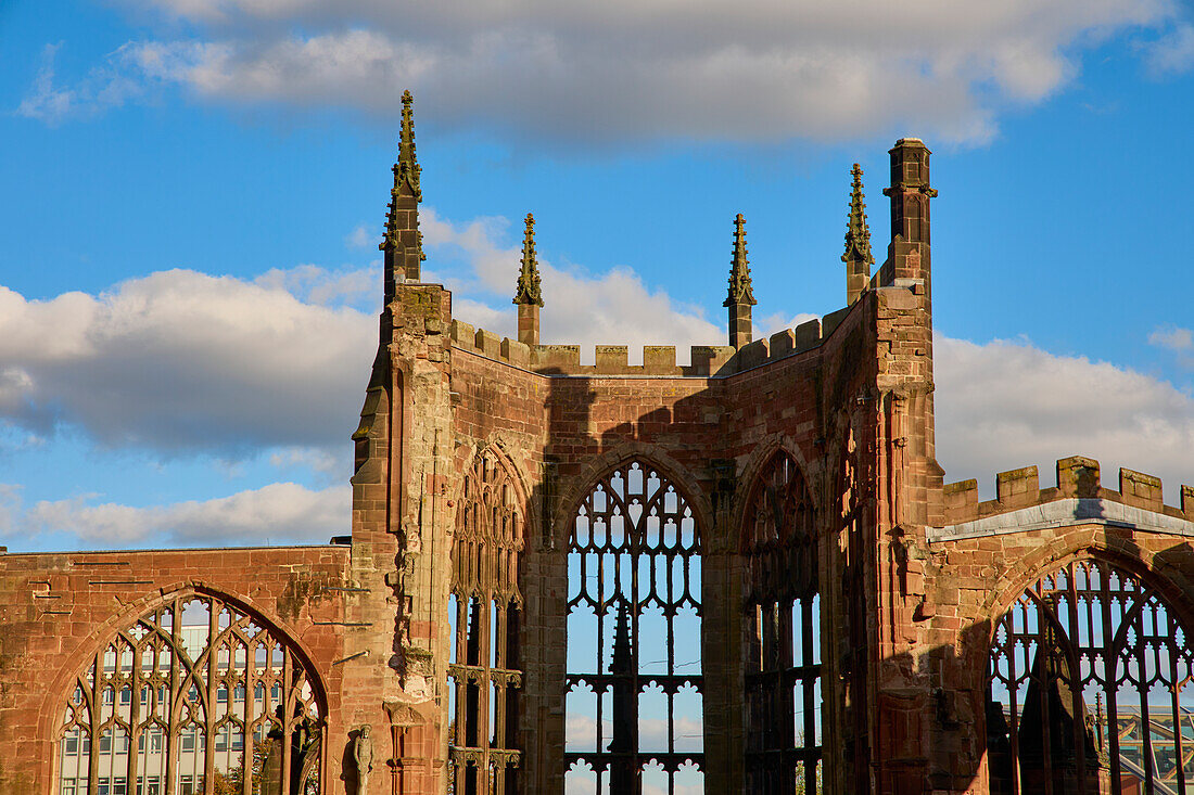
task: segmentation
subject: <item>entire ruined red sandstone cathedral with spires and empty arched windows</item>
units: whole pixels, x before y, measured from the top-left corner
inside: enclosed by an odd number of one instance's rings
[[[516,339],[423,282],[407,94],[345,535],[0,554],[0,793],[1194,791],[1194,488],[946,482],[929,158],[842,308],[752,339],[738,216],[727,345],[581,364],[531,216]]]

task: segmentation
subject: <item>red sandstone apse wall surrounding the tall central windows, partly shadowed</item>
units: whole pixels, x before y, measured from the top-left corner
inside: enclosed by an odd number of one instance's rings
[[[522,472],[531,495],[522,571],[528,602],[523,645],[527,791],[562,789],[560,683],[567,643],[564,603],[572,511],[599,475],[632,456],[663,467],[688,493],[703,526],[706,787],[708,791],[740,790],[744,701],[737,544],[741,503],[756,472],[783,448],[805,469],[823,501],[819,516],[830,522],[829,481],[836,468],[826,462],[842,457],[843,427],[855,413],[866,411],[867,402],[857,398],[870,395],[878,370],[873,313],[874,307],[863,302],[838,314],[825,339],[801,352],[782,349],[782,339],[773,344],[777,351],[770,356],[767,341],[756,344],[726,360],[721,377],[679,377],[681,368],[675,375],[648,376],[641,368],[624,366],[624,349],[617,352],[623,364],[598,360],[597,369],[614,375],[589,374],[571,359],[561,365],[564,371],[579,369],[584,375],[552,374],[552,366],[533,372],[529,356],[501,356],[501,344],[492,335],[485,337],[480,349],[454,345],[450,383],[457,481],[479,449],[498,444]],[[506,347],[518,353],[515,346]],[[598,346],[598,359],[603,351],[609,356],[609,350]],[[826,556],[829,548],[826,542]],[[835,571],[827,562],[826,557],[821,571]],[[447,653],[445,646],[441,648]],[[826,646],[823,659],[830,657]]]

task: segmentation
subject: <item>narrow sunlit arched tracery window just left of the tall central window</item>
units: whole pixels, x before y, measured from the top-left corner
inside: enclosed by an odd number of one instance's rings
[[[457,795],[517,791],[522,500],[494,450],[464,475],[451,548],[450,779]]]

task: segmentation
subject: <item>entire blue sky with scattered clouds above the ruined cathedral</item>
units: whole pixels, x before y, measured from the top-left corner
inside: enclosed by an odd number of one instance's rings
[[[398,98],[426,270],[509,333],[719,343],[844,302],[850,164],[934,150],[947,480],[1057,457],[1194,482],[1194,13],[1162,0],[0,6],[0,546],[347,531]],[[589,356],[592,356],[591,350]]]

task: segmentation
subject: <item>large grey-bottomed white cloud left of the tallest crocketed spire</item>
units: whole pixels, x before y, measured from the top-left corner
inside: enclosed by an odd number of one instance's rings
[[[48,301],[0,286],[0,418],[167,455],[346,446],[376,345],[370,315],[270,278],[174,270]]]

